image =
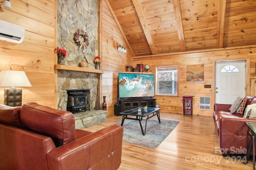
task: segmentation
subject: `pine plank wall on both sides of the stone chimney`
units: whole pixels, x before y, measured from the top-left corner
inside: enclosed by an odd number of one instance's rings
[[[102,96],[106,97],[108,114],[114,114],[117,101],[118,72],[132,64],[132,55],[118,53],[118,45],[128,47],[122,33],[102,0]],[[56,76],[56,4],[57,0],[12,0],[12,10],[0,12],[0,20],[25,27],[25,39],[21,44],[0,41],[0,70],[24,70],[32,87],[23,87],[22,103],[37,102],[57,107]],[[39,8],[40,7],[40,8]],[[44,16],[44,17],[42,17]],[[0,87],[0,103],[4,88]],[[103,100],[103,99],[102,99]]]

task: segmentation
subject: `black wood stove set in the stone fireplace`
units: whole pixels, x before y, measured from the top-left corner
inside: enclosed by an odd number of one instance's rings
[[[67,111],[70,111],[74,114],[76,110],[86,111],[86,91],[90,89],[76,89],[76,90],[67,90],[68,94],[68,103]]]

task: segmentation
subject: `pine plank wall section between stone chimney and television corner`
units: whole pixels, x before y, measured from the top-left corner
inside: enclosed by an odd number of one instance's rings
[[[108,115],[114,115],[114,104],[118,98],[118,73],[132,65],[132,55],[105,0],[102,1],[102,96],[106,96]],[[127,53],[117,51],[126,47]]]

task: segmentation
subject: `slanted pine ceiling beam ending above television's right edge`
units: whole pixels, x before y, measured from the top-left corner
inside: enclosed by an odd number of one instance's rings
[[[142,11],[142,7],[141,7],[140,3],[138,2],[138,0],[132,0],[132,3],[133,3],[134,8],[137,12],[138,18],[140,20],[140,24],[141,24],[142,29],[144,31],[145,37],[148,41],[148,45],[149,45],[149,48],[151,50],[151,53],[152,53],[152,55],[155,55],[155,54],[157,54],[157,51],[156,51],[156,48],[155,48],[155,43],[154,43],[153,38],[151,36],[150,29],[149,29],[148,24],[146,22],[146,17],[144,15],[143,11]]]

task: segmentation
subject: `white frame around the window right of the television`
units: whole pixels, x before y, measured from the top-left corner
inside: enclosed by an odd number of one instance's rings
[[[177,71],[177,94],[159,94],[159,71],[166,71],[166,70],[176,70]],[[178,78],[178,75],[179,75],[179,67],[178,66],[158,66],[156,67],[156,89],[155,89],[155,95],[156,96],[179,96],[179,78]],[[175,81],[175,80],[174,80]]]

